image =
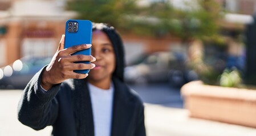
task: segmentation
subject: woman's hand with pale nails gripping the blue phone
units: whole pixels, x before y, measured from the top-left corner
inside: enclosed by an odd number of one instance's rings
[[[93,69],[95,67],[93,63],[74,63],[77,61],[96,61],[96,58],[92,56],[82,54],[71,56],[72,53],[78,52],[79,50],[90,48],[92,46],[91,44],[75,45],[64,49],[64,37],[65,35],[62,35],[57,52],[52,57],[50,64],[43,71],[41,86],[45,90],[49,90],[54,84],[62,83],[69,78],[83,79],[88,76],[88,74],[74,73],[73,70]]]

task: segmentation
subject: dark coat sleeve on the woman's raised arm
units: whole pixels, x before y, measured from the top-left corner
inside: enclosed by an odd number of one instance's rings
[[[27,84],[18,104],[18,120],[35,130],[54,124],[58,116],[59,105],[55,96],[60,89],[60,84],[44,91],[40,86],[44,69],[45,67],[36,73]]]

